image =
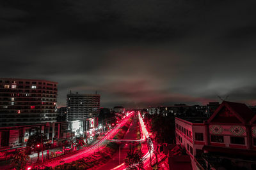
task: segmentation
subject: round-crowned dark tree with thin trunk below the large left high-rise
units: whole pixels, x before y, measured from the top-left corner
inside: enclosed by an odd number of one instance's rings
[[[47,141],[47,136],[45,134],[36,132],[35,134],[29,136],[27,142],[27,149],[32,149],[37,151],[37,161],[39,160],[40,151],[44,148],[44,143]],[[43,148],[42,148],[43,147]]]

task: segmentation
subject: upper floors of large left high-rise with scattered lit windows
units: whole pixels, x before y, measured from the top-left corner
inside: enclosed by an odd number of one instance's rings
[[[0,126],[56,122],[57,84],[0,78]]]

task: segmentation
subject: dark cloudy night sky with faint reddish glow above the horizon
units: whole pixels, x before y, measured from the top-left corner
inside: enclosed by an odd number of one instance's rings
[[[0,76],[57,81],[102,107],[256,104],[255,1],[0,2]]]

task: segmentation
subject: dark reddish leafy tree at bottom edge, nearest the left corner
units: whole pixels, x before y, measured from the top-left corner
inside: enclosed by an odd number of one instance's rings
[[[12,160],[12,166],[19,170],[25,169],[26,162],[29,160],[29,155],[26,155],[25,150],[16,150]]]

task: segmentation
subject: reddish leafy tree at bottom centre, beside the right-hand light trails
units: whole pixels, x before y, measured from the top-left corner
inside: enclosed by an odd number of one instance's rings
[[[130,148],[127,156],[124,159],[125,167],[127,170],[137,170],[143,168],[143,153],[141,150],[134,152],[134,148]]]

